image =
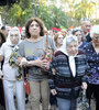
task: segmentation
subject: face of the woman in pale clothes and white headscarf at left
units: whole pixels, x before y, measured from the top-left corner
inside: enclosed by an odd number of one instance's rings
[[[18,44],[19,43],[19,38],[20,38],[20,36],[19,36],[19,32],[18,31],[11,32],[10,40],[11,40],[12,44]]]

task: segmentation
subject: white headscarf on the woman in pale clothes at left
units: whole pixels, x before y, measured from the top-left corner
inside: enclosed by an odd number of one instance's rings
[[[18,31],[18,34],[19,34],[19,43],[21,42],[21,34],[20,34],[20,31],[16,26],[12,28],[10,31],[9,31],[9,34],[8,34],[8,37],[7,37],[7,44],[12,46],[13,44],[11,43],[11,32],[14,32],[14,31]],[[18,44],[19,44],[18,43]]]

